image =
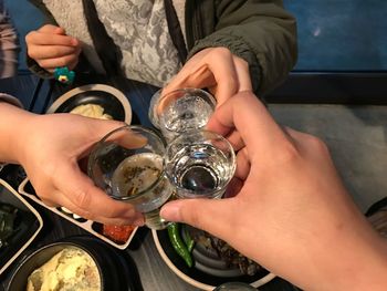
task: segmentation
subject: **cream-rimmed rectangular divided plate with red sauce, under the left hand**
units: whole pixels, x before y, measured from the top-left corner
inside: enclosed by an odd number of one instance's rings
[[[92,221],[92,220],[87,220],[87,219],[84,219],[82,217],[77,217],[75,215],[73,215],[72,212],[69,212],[66,210],[64,210],[63,208],[60,208],[60,207],[49,207],[46,206],[35,194],[35,190],[32,186],[32,184],[30,183],[30,180],[28,178],[25,178],[20,185],[19,185],[19,188],[18,188],[18,191],[21,194],[21,195],[24,195],[27,197],[29,197],[30,199],[32,199],[33,201],[35,201],[36,204],[43,206],[44,208],[51,210],[52,212],[63,217],[64,219],[73,222],[74,225],[79,226],[80,228],[83,228],[84,230],[88,231],[90,233],[94,235],[95,237],[102,239],[103,241],[112,245],[113,247],[117,248],[117,249],[126,249],[133,237],[135,236],[136,231],[137,231],[137,227],[135,227],[129,237],[127,238],[126,241],[124,242],[117,242],[113,239],[111,239],[109,237],[103,235],[103,225],[102,224],[98,224],[98,222],[95,222],[95,221]]]

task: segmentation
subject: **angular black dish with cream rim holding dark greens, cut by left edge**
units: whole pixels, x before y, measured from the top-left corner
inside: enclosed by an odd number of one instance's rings
[[[13,216],[12,222],[15,231],[7,236],[6,241],[0,248],[0,274],[14,261],[14,259],[33,241],[43,227],[42,217],[29,205],[7,181],[0,179],[0,204],[1,206],[18,209]],[[1,215],[0,228],[3,233],[4,225],[9,218]],[[0,239],[1,240],[1,239]]]

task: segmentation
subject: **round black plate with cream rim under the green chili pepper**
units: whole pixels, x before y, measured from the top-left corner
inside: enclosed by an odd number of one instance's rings
[[[171,246],[167,230],[151,232],[156,248],[166,264],[180,279],[201,290],[210,291],[226,282],[244,282],[257,288],[275,277],[262,268],[254,276],[241,274],[236,269],[227,268],[220,259],[215,259],[197,246],[192,250],[194,267],[189,268]]]

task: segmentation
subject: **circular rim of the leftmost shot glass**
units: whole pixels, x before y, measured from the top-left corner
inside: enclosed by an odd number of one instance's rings
[[[130,124],[125,124],[123,126],[119,126],[111,132],[108,132],[106,135],[104,135],[104,137],[102,137],[96,144],[94,144],[93,146],[93,149],[92,152],[90,153],[90,157],[88,157],[88,163],[87,163],[87,176],[94,181],[94,174],[93,174],[93,170],[92,170],[92,163],[93,160],[96,159],[96,154],[97,152],[102,148],[103,144],[106,142],[106,139],[108,137],[111,137],[112,135],[114,135],[115,133],[119,132],[119,131],[123,131],[123,129],[132,129],[132,128],[135,128],[135,129],[142,129],[144,132],[147,132],[148,134],[151,134],[154,136],[157,137],[157,139],[159,139],[165,148],[165,150],[167,149],[166,147],[166,144],[164,142],[164,139],[157,134],[156,131],[151,129],[151,128],[148,128],[148,127],[145,127],[143,125],[130,125]],[[123,196],[123,197],[118,197],[118,196],[115,196],[115,195],[109,195],[109,194],[106,194],[108,197],[112,197],[113,199],[117,200],[117,201],[127,201],[127,200],[134,200],[140,196],[143,196],[145,193],[149,191],[149,190],[153,190],[158,184],[159,181],[164,178],[164,176],[166,176],[166,172],[165,172],[165,167],[164,167],[164,158],[165,158],[165,153],[164,155],[161,156],[163,158],[163,168],[160,170],[160,174],[158,175],[157,179],[151,184],[149,185],[147,188],[145,188],[144,190],[139,191],[139,193],[136,193],[135,195],[130,195],[130,196]],[[94,183],[95,185],[95,183]],[[95,185],[96,187],[98,187],[97,185]],[[98,187],[100,188],[100,187]],[[100,188],[101,189],[101,188]]]

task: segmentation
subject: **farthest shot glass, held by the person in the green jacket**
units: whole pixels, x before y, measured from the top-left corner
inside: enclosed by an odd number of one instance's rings
[[[161,90],[151,97],[148,115],[167,142],[184,132],[205,127],[217,105],[215,97],[200,89],[179,89],[160,94]]]

